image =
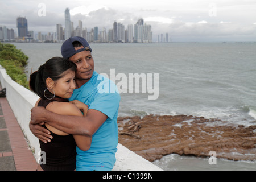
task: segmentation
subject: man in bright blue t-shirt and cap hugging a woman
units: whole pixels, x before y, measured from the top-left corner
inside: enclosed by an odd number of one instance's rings
[[[38,125],[49,125],[69,134],[92,137],[88,151],[77,147],[77,170],[111,170],[118,144],[117,115],[120,95],[114,82],[94,71],[92,49],[81,37],[72,37],[61,46],[61,54],[77,65],[76,89],[69,100],[88,105],[86,117],[59,115],[44,109],[31,109],[30,130],[43,142],[50,142],[49,131]],[[110,88],[115,92],[110,92]],[[104,90],[102,92],[102,90]]]

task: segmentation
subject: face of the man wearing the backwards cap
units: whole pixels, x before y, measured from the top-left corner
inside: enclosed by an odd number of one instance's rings
[[[84,48],[75,47],[76,50]],[[90,51],[81,51],[75,55],[69,57],[73,63],[76,64],[76,79],[80,80],[89,80],[94,71],[94,60]]]

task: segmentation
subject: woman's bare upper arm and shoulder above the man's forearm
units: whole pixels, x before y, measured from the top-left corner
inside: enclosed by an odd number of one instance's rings
[[[81,115],[81,111],[77,108],[76,105],[70,102],[51,102],[46,107],[47,110],[52,111],[53,113],[61,115]]]

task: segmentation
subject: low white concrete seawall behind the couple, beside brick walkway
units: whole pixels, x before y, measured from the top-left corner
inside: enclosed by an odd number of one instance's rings
[[[30,131],[28,123],[30,122],[30,110],[34,107],[38,96],[23,86],[17,84],[15,81],[6,74],[5,69],[0,68],[0,81],[2,88],[6,88],[6,98],[9,102],[11,109],[23,130],[24,135],[27,137],[32,150],[35,151],[36,160],[39,159],[39,142]],[[118,143],[116,158],[117,162],[113,171],[159,171],[162,170],[155,166],[148,160],[130,151],[128,148]]]

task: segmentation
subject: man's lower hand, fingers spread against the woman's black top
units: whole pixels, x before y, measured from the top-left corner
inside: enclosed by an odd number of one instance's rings
[[[42,127],[43,123],[40,124],[32,124],[30,122],[30,131],[32,132],[32,134],[35,135],[35,137],[37,137],[39,140],[41,140],[44,143],[47,142],[51,142],[52,139],[52,135],[51,132],[47,129],[45,129],[44,127]]]

